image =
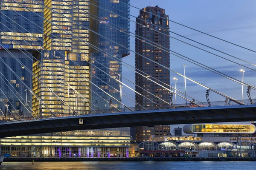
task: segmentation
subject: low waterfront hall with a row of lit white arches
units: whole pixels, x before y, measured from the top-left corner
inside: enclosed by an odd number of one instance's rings
[[[255,150],[250,142],[208,141],[144,141],[131,144],[131,157],[253,157]],[[241,149],[241,150],[240,150]]]

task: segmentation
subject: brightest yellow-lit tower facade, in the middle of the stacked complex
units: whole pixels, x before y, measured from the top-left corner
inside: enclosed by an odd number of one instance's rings
[[[33,77],[33,110],[40,116],[89,109],[89,1],[44,0],[45,51],[33,64],[41,77]]]

